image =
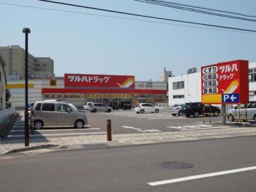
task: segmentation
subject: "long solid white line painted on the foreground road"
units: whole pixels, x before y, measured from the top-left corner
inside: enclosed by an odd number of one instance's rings
[[[218,175],[227,175],[227,174],[232,174],[232,173],[239,173],[239,172],[243,172],[243,171],[251,171],[251,170],[255,170],[256,166],[254,167],[245,167],[245,168],[241,168],[241,169],[232,169],[232,170],[228,170],[228,171],[220,171],[220,172],[215,172],[215,173],[206,173],[206,174],[202,174],[202,175],[193,175],[193,176],[189,176],[189,177],[184,177],[184,178],[177,178],[177,179],[172,179],[172,180],[162,180],[162,181],[158,181],[158,182],[149,182],[147,184],[151,185],[151,186],[157,186],[157,185],[162,185],[162,184],[171,184],[171,183],[175,183],[175,182],[183,182],[183,181],[188,181],[188,180],[198,180],[201,178],[210,178],[210,177],[215,177]]]

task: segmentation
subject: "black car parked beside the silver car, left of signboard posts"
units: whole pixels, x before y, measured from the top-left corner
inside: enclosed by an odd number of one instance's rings
[[[186,117],[199,117],[204,114],[206,116],[209,116],[209,114],[218,116],[220,114],[220,109],[218,107],[213,105],[203,105],[202,103],[186,103],[182,111]]]

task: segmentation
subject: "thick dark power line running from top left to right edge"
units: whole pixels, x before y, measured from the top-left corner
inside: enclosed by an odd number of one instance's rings
[[[48,3],[56,3],[60,5],[65,5],[65,6],[73,6],[77,8],[87,8],[91,10],[100,10],[104,12],[114,12],[118,14],[126,14],[126,15],[131,15],[131,16],[136,16],[136,17],[144,17],[144,18],[150,18],[150,19],[159,19],[159,20],[164,20],[164,21],[174,21],[174,22],[179,22],[179,23],[189,23],[193,25],[203,25],[203,26],[208,26],[208,27],[213,27],[213,28],[224,28],[224,29],[229,29],[229,30],[239,30],[239,31],[245,31],[245,32],[256,32],[256,30],[246,30],[242,28],[231,28],[223,25],[212,25],[212,24],[206,24],[206,23],[196,23],[196,22],[191,22],[191,21],[182,21],[182,20],[177,20],[177,19],[167,19],[163,17],[153,17],[153,16],[148,16],[148,15],[143,15],[143,14],[134,14],[134,13],[129,13],[129,12],[120,12],[120,11],[115,11],[115,10],[106,10],[102,8],[93,8],[93,7],[88,7],[88,6],[79,6],[76,4],[71,4],[71,3],[63,3],[63,2],[58,2],[58,1],[48,1],[48,0],[38,0],[38,1],[44,1]]]

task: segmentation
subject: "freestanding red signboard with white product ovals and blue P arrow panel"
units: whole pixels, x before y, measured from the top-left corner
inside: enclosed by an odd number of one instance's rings
[[[207,65],[201,76],[202,103],[248,103],[248,61]]]

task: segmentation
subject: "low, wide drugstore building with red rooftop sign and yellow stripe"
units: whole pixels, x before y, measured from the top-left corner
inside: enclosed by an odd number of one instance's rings
[[[64,77],[29,80],[29,102],[56,99],[81,107],[86,102],[167,103],[167,83],[135,81],[134,76],[65,74]],[[9,81],[10,101],[24,106],[23,81]]]

